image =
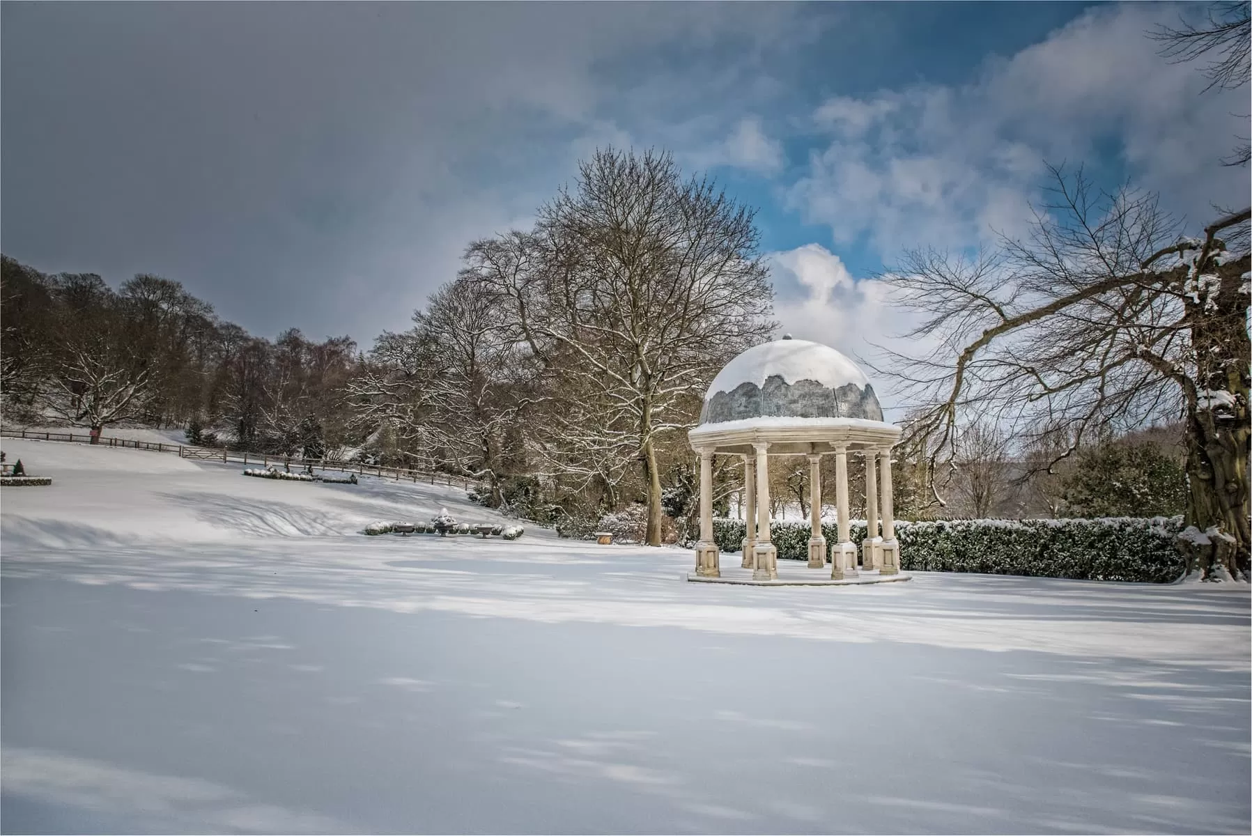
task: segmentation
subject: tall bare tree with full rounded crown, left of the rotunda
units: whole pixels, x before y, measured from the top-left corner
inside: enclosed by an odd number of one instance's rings
[[[470,248],[466,275],[511,302],[575,444],[640,463],[661,542],[659,437],[690,427],[731,357],[764,339],[771,288],[754,213],[669,154],[597,151],[532,235]],[[567,397],[572,393],[575,397]],[[587,432],[591,431],[591,432]]]

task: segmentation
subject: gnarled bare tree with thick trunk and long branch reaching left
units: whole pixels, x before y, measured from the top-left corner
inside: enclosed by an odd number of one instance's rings
[[[942,451],[977,408],[1018,421],[1027,442],[1060,428],[1064,456],[1094,432],[1182,414],[1186,517],[1204,536],[1179,548],[1204,578],[1246,577],[1249,212],[1176,238],[1153,195],[1053,174],[1055,200],[1025,240],[974,260],[911,252],[889,277],[926,314],[913,335],[945,334],[935,354],[898,355],[928,404],[909,433]]]

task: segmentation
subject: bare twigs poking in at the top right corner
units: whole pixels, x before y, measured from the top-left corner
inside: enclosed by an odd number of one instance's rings
[[[1252,18],[1247,0],[1221,0],[1208,6],[1207,19],[1196,25],[1183,18],[1178,26],[1157,26],[1148,34],[1162,44],[1161,54],[1172,63],[1194,61],[1212,55],[1201,71],[1208,78],[1206,91],[1237,90],[1252,75]],[[1214,55],[1216,54],[1216,55]],[[1248,138],[1242,138],[1226,165],[1247,165],[1252,159]]]

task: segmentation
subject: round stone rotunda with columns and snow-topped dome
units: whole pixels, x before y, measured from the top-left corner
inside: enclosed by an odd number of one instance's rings
[[[754,584],[848,584],[904,581],[900,546],[891,513],[891,447],[900,429],[883,421],[878,395],[865,373],[821,343],[791,339],[755,345],[721,369],[687,433],[700,456],[700,542],[690,581]],[[856,544],[848,519],[848,454],[865,458],[865,506],[869,531]],[[744,459],[744,504],[747,536],[740,569],[724,577],[712,534],[712,457]],[[830,548],[830,577],[801,572],[779,578],[777,549],[770,542],[770,456],[803,454],[809,459],[809,568],[826,566],[821,534],[821,457],[835,457],[835,503],[839,542]],[[879,531],[881,508],[881,532]],[[737,576],[737,577],[735,577]]]

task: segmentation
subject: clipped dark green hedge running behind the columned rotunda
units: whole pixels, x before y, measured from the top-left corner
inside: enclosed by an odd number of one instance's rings
[[[1169,583],[1186,568],[1173,544],[1181,529],[1181,517],[954,519],[896,522],[895,537],[905,571]],[[858,549],[865,531],[864,521],[851,523]],[[745,532],[739,519],[714,519],[714,539],[722,552],[737,552]],[[821,533],[830,559],[838,528],[823,523]],[[779,559],[809,559],[808,523],[771,523],[770,539]]]

